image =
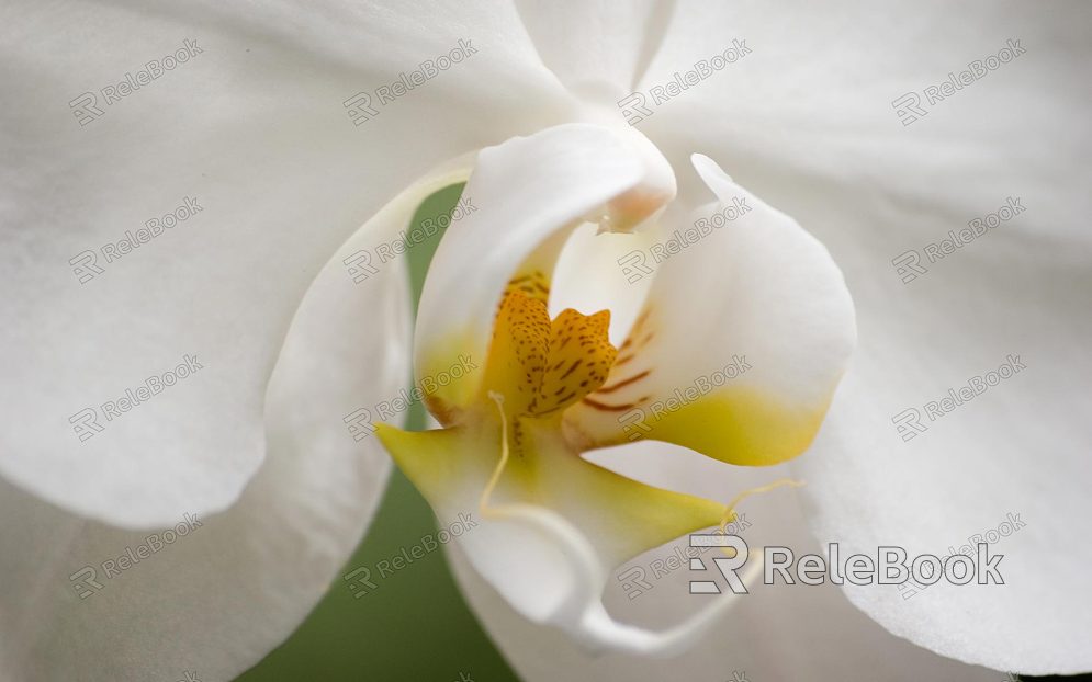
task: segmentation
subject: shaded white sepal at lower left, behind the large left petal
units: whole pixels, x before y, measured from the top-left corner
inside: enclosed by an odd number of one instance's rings
[[[354,442],[342,417],[405,386],[409,300],[399,261],[353,284],[340,259],[396,238],[409,198],[362,228],[308,289],[269,385],[269,455],[228,511],[195,512],[200,526],[148,554],[151,531],[88,521],[0,481],[0,678],[230,680],[345,589],[335,571],[390,459],[374,437]],[[127,553],[137,562],[123,564]]]

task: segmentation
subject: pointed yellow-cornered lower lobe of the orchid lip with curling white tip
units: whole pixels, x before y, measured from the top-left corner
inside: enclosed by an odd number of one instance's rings
[[[601,600],[611,567],[664,537],[714,525],[723,511],[718,503],[638,485],[541,442],[530,501],[503,480],[482,502],[496,466],[483,455],[499,433],[383,429],[379,435],[441,524],[469,528],[458,542],[474,568],[525,617],[564,630],[585,649],[676,655],[739,599],[711,601],[657,628],[615,618]]]

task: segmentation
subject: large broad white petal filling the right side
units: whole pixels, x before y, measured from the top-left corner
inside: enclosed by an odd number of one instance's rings
[[[1092,330],[1080,293],[1092,280],[1083,218],[1092,104],[1079,65],[1092,24],[1078,3],[1049,13],[935,8],[801,4],[770,21],[759,8],[683,5],[648,83],[731,37],[753,54],[641,128],[673,160],[716,148],[741,182],[806,224],[846,275],[860,344],[830,428],[801,462],[820,539],[946,554],[1009,512],[1028,521],[995,547],[1007,554],[1003,589],[931,588],[905,601],[853,590],[851,599],[946,656],[1032,674],[1087,671],[1087,544],[1059,547],[1072,520],[1089,515],[1092,406],[1082,379]],[[710,35],[709,23],[732,34]],[[902,125],[897,98],[923,94],[1010,39],[1026,53]],[[928,261],[928,245],[1010,196],[1026,213]],[[910,249],[928,272],[904,285],[892,259]],[[1027,363],[1025,374],[944,419],[925,418],[928,432],[901,441],[896,414],[924,411],[1010,353]]]

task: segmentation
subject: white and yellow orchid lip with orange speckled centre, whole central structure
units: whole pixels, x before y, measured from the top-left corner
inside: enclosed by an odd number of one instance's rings
[[[795,457],[854,342],[825,249],[708,158],[694,163],[709,187],[676,200],[672,168],[624,125],[483,150],[463,190],[477,209],[447,228],[417,320],[417,376],[446,428],[378,432],[441,519],[485,518],[462,538],[475,568],[590,648],[677,653],[713,624],[728,600],[653,633],[613,621],[600,594],[612,568],[732,511],[582,455],[648,439],[736,465]],[[634,232],[596,234],[607,227]],[[678,229],[700,241],[632,286],[641,273],[613,261],[655,266]]]

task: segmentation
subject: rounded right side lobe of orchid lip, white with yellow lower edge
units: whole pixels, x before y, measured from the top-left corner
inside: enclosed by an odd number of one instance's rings
[[[708,158],[694,164],[718,202],[693,226],[662,227],[649,253],[666,260],[643,311],[606,385],[567,423],[593,446],[654,439],[776,464],[822,423],[856,339],[853,302],[826,249],[792,218]],[[667,240],[679,250],[665,251]]]

